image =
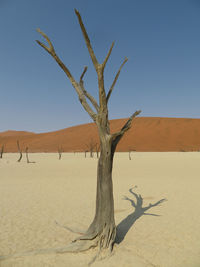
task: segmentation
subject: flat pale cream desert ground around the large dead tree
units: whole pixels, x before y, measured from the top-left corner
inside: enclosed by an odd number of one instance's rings
[[[16,162],[18,156],[0,159],[0,255],[68,244],[77,234],[61,226],[82,231],[93,219],[97,159],[34,153],[29,158],[36,163],[27,164],[25,158]],[[92,266],[199,267],[200,153],[131,156],[116,153],[114,159],[118,244],[111,257]],[[0,266],[87,266],[96,252],[25,256]]]

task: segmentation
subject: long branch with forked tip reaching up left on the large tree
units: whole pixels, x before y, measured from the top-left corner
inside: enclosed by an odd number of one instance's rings
[[[40,29],[37,29],[37,31],[47,40],[49,47],[47,47],[46,45],[44,45],[43,43],[41,43],[40,41],[36,41],[40,46],[42,46],[54,59],[55,61],[58,63],[58,65],[61,67],[61,69],[65,72],[65,74],[67,75],[67,77],[69,78],[72,86],[74,87],[74,89],[76,90],[78,96],[79,96],[79,101],[81,102],[82,106],[84,107],[84,109],[87,111],[87,113],[90,115],[90,117],[93,119],[93,121],[96,121],[96,114],[94,113],[94,111],[91,109],[91,107],[89,106],[89,104],[86,101],[84,92],[82,91],[80,85],[76,82],[76,80],[74,79],[74,77],[72,76],[72,74],[70,73],[69,69],[65,66],[65,64],[60,60],[60,58],[57,56],[54,47],[49,39],[49,37],[43,33]],[[84,70],[83,74],[81,75],[81,77],[84,76],[86,70]]]

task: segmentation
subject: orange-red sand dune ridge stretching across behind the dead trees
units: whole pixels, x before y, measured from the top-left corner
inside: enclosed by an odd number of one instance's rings
[[[110,121],[111,130],[119,130],[127,119]],[[30,152],[85,151],[90,142],[98,143],[96,126],[83,124],[48,133],[8,131],[0,133],[0,146],[6,152],[17,152],[16,142]],[[120,141],[117,151],[200,151],[200,119],[135,118],[132,128]]]

